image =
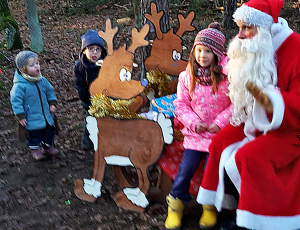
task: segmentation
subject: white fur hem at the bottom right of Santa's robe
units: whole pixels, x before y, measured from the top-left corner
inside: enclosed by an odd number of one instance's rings
[[[300,229],[300,215],[263,216],[244,210],[237,210],[236,223],[247,229],[295,230]]]

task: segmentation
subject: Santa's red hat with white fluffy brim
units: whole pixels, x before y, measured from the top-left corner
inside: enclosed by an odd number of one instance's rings
[[[283,4],[283,0],[250,0],[234,12],[233,18],[271,31],[278,24]]]

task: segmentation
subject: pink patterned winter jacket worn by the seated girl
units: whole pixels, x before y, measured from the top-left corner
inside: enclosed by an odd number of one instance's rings
[[[199,121],[208,126],[215,123],[221,129],[228,123],[232,113],[232,104],[228,97],[228,80],[225,78],[218,85],[218,91],[213,94],[212,86],[196,84],[192,94],[189,93],[191,76],[187,71],[179,75],[177,86],[177,99],[174,101],[175,112],[178,120],[184,125],[183,146],[208,152],[208,147],[215,133],[196,133],[196,124]]]

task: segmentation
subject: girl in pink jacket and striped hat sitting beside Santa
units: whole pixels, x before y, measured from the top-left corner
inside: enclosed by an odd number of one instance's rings
[[[172,190],[167,196],[166,229],[179,229],[186,204],[190,199],[189,185],[199,162],[208,154],[208,147],[217,132],[229,123],[231,102],[228,80],[224,71],[227,57],[225,36],[219,23],[201,30],[189,57],[189,64],[179,75],[175,113],[184,125],[185,151]]]

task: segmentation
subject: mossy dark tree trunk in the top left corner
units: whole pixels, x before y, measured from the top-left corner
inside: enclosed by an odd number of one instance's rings
[[[7,0],[0,1],[0,31],[4,29],[7,49],[23,48],[18,23],[10,14]]]

